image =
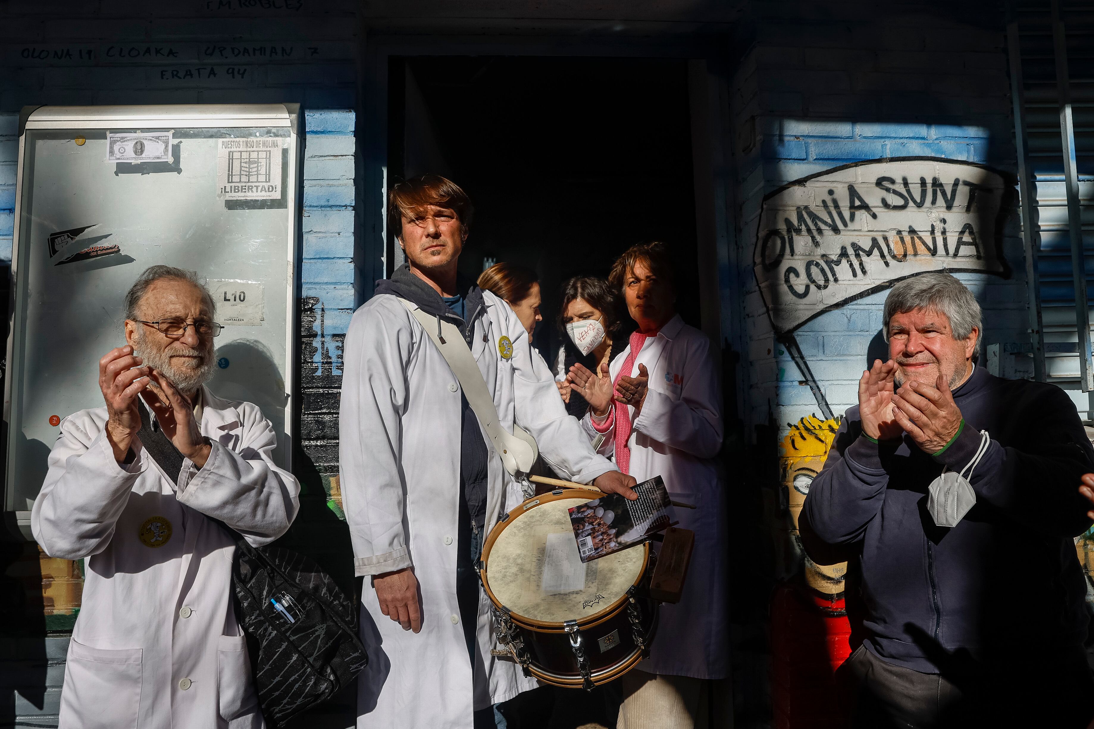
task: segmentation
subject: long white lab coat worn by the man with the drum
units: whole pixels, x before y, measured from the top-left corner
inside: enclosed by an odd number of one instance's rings
[[[557,472],[581,483],[615,470],[593,452],[568,416],[547,364],[509,305],[482,292],[486,316],[469,342],[502,427],[514,420],[538,442]],[[468,313],[470,314],[470,313]],[[509,360],[499,340],[512,342]],[[421,632],[380,611],[365,580],[361,637],[369,668],[360,679],[358,727],[472,729],[473,709],[537,685],[498,648],[490,602],[479,590],[478,656],[473,677],[456,601],[459,543],[461,388],[421,325],[391,294],[373,296],[346,334],[340,408],[342,506],[359,576],[412,566]],[[490,448],[486,531],[503,505],[523,497]]]

